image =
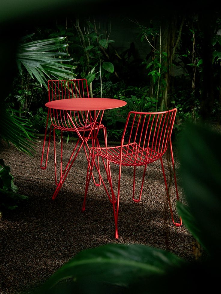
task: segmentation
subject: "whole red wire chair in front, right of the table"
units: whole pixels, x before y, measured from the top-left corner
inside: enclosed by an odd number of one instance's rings
[[[90,148],[89,161],[86,176],[86,188],[83,201],[82,212],[85,210],[86,195],[88,192],[89,182],[92,175],[92,169],[95,163],[96,157],[101,157],[107,160],[107,167],[105,171],[107,173],[107,179],[111,188],[111,196],[107,190],[106,185],[99,173],[102,184],[104,185],[105,191],[114,209],[114,220],[115,220],[115,238],[118,239],[118,211],[119,211],[119,200],[120,200],[120,179],[121,179],[121,168],[122,166],[133,166],[133,201],[139,202],[141,200],[142,189],[144,185],[144,177],[147,168],[147,164],[153,163],[154,161],[160,159],[162,165],[162,172],[165,181],[165,187],[168,197],[169,208],[171,212],[172,222],[176,226],[182,225],[182,219],[180,222],[176,223],[174,221],[168,185],[166,181],[165,171],[163,167],[162,156],[165,154],[168,144],[170,145],[171,160],[174,170],[174,157],[171,144],[171,132],[174,125],[174,120],[176,116],[177,109],[174,108],[169,111],[164,112],[129,112],[124,132],[121,139],[120,146],[116,147],[104,147],[104,148]],[[125,143],[124,141],[127,140]],[[90,164],[91,161],[91,164]],[[110,163],[119,165],[119,177],[118,177],[118,190],[117,197],[113,190],[112,179],[111,179],[111,169]],[[135,199],[135,170],[137,166],[144,166],[144,173],[141,183],[141,190],[138,199]],[[176,188],[177,200],[179,200],[177,181],[174,170],[174,182]]]

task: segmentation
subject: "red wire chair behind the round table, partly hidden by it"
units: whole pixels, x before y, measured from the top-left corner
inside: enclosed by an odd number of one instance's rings
[[[85,98],[89,97],[89,91],[87,86],[87,80],[86,79],[73,79],[73,80],[49,80],[48,81],[48,100],[58,100],[58,99],[69,99],[69,98]],[[71,124],[70,119],[67,117],[67,114],[65,111],[62,110],[50,110],[48,109],[47,114],[47,122],[46,122],[46,128],[45,128],[45,134],[44,134],[44,143],[43,143],[43,150],[42,150],[42,156],[41,156],[41,169],[45,170],[47,168],[47,161],[48,161],[48,154],[49,154],[49,146],[50,146],[50,139],[51,139],[51,131],[53,127],[53,138],[54,138],[54,164],[55,164],[55,183],[58,185],[57,181],[57,164],[56,164],[56,147],[55,147],[55,130],[61,131],[61,160],[60,160],[60,175],[62,176],[62,148],[63,148],[63,131],[68,132],[75,132],[80,133],[82,138],[87,137],[86,132],[91,131],[92,124],[95,118],[95,112],[83,112],[83,111],[75,111],[69,113],[71,119],[73,120],[75,127],[73,124]],[[46,159],[45,159],[45,165],[43,165],[43,159],[44,159],[44,150],[45,150],[45,144],[46,144],[46,137],[47,137],[47,128],[49,124],[49,117],[51,121],[50,130],[49,130],[49,140],[48,140],[48,146],[47,146],[47,152],[46,152]],[[93,132],[90,136],[90,139],[92,140],[92,146],[93,147],[99,147],[99,142],[97,138],[97,132],[96,130],[103,129],[104,131],[104,142],[105,146],[107,146],[107,132],[106,127],[104,127],[103,124],[96,123],[95,127],[93,128]],[[78,139],[75,149],[77,148],[78,142],[80,139]],[[83,146],[84,147],[84,146]],[[74,150],[75,150],[74,149]],[[86,149],[84,147],[85,154],[88,160],[88,155],[86,152]],[[99,170],[99,162],[98,162],[98,170]],[[93,177],[94,179],[94,177]],[[95,183],[95,179],[94,179]],[[95,185],[100,185],[101,181],[99,179],[99,183]]]

